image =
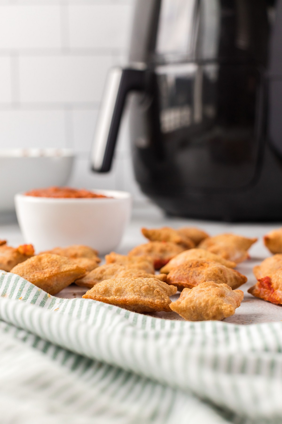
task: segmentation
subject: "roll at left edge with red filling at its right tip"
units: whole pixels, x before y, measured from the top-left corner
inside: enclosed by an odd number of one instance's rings
[[[0,246],[0,269],[11,271],[17,264],[34,255],[32,244],[23,244],[17,248],[3,244]]]

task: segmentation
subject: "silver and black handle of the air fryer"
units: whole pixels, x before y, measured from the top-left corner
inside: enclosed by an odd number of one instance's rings
[[[107,78],[91,151],[91,167],[109,172],[118,137],[126,95],[145,89],[145,70],[112,68]]]

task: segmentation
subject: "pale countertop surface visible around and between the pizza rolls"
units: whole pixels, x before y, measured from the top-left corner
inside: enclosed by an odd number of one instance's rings
[[[248,282],[240,287],[244,290],[244,301],[239,307],[235,315],[227,318],[225,321],[235,324],[254,324],[259,322],[282,321],[282,306],[277,306],[269,302],[257,299],[247,293],[249,287],[255,284],[255,276],[252,273],[252,268],[260,263],[263,259],[270,256],[267,249],[264,247],[262,237],[271,229],[279,228],[282,223],[275,224],[257,224],[257,223],[219,223],[205,220],[189,220],[183,218],[171,218],[165,216],[159,208],[151,204],[141,204],[135,206],[133,216],[124,234],[122,243],[117,251],[121,254],[126,254],[134,246],[145,243],[146,240],[140,232],[143,226],[162,227],[172,226],[198,226],[211,235],[220,234],[223,232],[234,232],[246,237],[258,237],[259,240],[249,250],[251,259],[238,265],[236,269],[248,277]],[[0,220],[0,239],[8,240],[10,245],[19,245],[24,242],[16,223],[4,223]],[[76,289],[77,291],[78,289]],[[178,295],[172,296],[178,297]],[[155,316],[168,319],[182,319],[175,312],[157,313]]]

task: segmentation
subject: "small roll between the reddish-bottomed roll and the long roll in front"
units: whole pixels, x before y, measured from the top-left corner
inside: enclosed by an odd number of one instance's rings
[[[126,268],[136,268],[148,272],[149,274],[154,274],[155,269],[153,266],[153,259],[147,256],[126,256],[120,255],[115,252],[105,256],[106,264],[115,263],[118,265],[123,265]]]

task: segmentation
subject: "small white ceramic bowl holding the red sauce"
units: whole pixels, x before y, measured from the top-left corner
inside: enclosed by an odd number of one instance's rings
[[[26,243],[37,252],[83,244],[106,254],[120,243],[131,215],[131,195],[93,190],[112,198],[44,198],[15,195],[16,216]]]

